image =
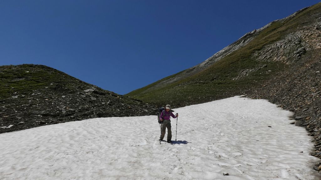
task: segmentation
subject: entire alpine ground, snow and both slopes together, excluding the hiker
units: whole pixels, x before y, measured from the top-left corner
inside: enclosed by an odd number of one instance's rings
[[[320,69],[321,3],[125,95],[0,66],[0,180],[320,179]]]

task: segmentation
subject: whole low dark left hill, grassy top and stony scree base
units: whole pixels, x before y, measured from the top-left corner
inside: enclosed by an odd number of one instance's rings
[[[0,66],[0,80],[0,133],[89,118],[151,115],[156,110],[43,65]]]

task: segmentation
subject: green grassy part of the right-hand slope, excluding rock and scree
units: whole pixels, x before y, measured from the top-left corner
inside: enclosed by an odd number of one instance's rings
[[[301,24],[306,23],[305,17],[319,10],[320,6],[321,3],[316,4],[290,19],[273,22],[246,46],[230,53],[206,70],[191,77],[168,84],[162,88],[147,90],[162,80],[177,74],[172,75],[130,92],[126,96],[157,105],[174,103],[176,107],[180,107],[246,93],[252,87],[263,85],[265,80],[288,68],[281,62],[255,61],[251,58],[251,55],[265,45],[281,40],[285,35],[297,30]],[[239,80],[232,80],[238,76],[241,70],[255,68],[263,64],[266,64],[267,67]],[[267,70],[271,70],[271,72],[267,72]]]

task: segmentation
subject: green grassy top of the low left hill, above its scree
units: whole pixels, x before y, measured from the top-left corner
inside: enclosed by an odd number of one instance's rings
[[[22,64],[18,66],[0,66],[0,99],[11,97],[15,92],[28,94],[34,90],[45,89],[46,87],[70,94],[78,89],[89,89],[93,86],[44,65]],[[102,90],[97,86],[96,89]],[[110,91],[106,91],[106,93],[118,95]]]

